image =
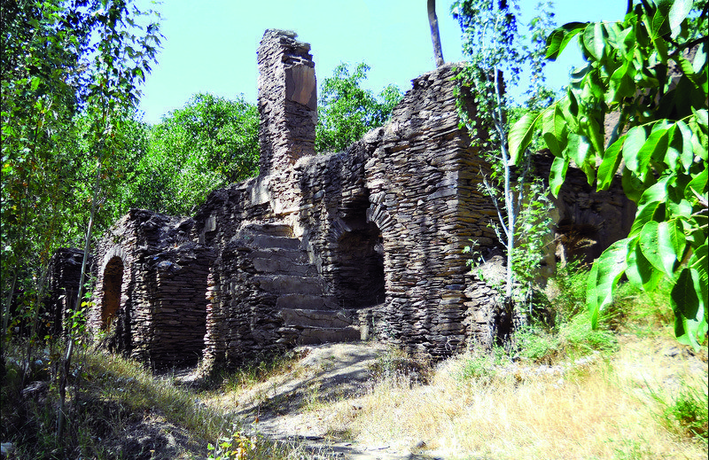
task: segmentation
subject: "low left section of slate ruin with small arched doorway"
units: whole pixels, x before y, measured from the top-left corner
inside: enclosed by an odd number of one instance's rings
[[[90,326],[145,363],[196,363],[202,355],[214,253],[191,241],[193,225],[191,218],[134,209],[98,245]]]

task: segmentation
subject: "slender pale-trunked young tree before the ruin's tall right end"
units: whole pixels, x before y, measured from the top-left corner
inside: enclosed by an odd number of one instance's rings
[[[537,15],[529,22],[530,36],[518,30],[518,5],[512,1],[460,0],[451,12],[463,31],[463,51],[467,59],[457,79],[469,92],[474,113],[459,100],[459,112],[471,133],[472,144],[491,164],[490,177],[484,177],[484,191],[493,199],[498,222],[493,226],[507,252],[504,304],[511,308],[515,286],[531,307],[536,270],[544,256],[544,233],[549,232],[549,205],[541,183],[529,179],[531,154],[510,163],[504,142],[510,118],[538,108],[549,97],[544,87],[544,37],[551,27],[550,4],[539,4]],[[520,108],[505,93],[504,87],[517,86],[528,69],[534,75],[526,90],[526,108]],[[503,82],[504,74],[504,82]]]

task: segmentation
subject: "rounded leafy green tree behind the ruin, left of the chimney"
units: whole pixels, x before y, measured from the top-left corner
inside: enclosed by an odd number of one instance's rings
[[[146,130],[146,150],[121,191],[122,212],[190,214],[210,191],[258,175],[258,129],[258,111],[243,97],[191,97]]]

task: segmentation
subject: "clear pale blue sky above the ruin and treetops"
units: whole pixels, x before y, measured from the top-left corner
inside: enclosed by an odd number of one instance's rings
[[[443,57],[460,61],[460,28],[449,12],[453,2],[436,3]],[[533,12],[536,4],[522,0],[522,11]],[[370,90],[378,92],[389,83],[409,90],[411,79],[434,67],[425,0],[164,0],[155,8],[165,40],[140,105],[144,121],[151,123],[197,92],[230,98],[244,94],[255,102],[256,49],[267,28],[293,30],[311,44],[318,82],[340,62],[363,61],[371,67],[365,84]],[[619,20],[625,8],[625,0],[560,0],[555,19],[557,25]],[[566,54],[548,67],[549,86],[555,90],[568,80],[569,68],[581,64],[578,51]]]

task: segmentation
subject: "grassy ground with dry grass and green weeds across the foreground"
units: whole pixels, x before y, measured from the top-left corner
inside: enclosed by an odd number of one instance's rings
[[[87,344],[74,363],[73,417],[61,442],[53,430],[56,348],[48,344],[29,378],[35,383],[22,386],[21,348],[12,347],[0,436],[19,458],[38,459],[338,458],[327,454],[328,441],[439,457],[705,458],[706,347],[696,355],[678,347],[663,292],[629,285],[591,329],[585,277],[588,270],[554,280],[557,323],[520,339],[518,355],[474,351],[432,367],[391,349],[371,366],[366,389],[352,394],[319,386],[332,362],[302,359],[307,350],[190,384]],[[300,404],[274,396],[278,382],[299,378],[294,393],[308,395]],[[237,416],[252,399],[258,409]],[[319,452],[259,434],[266,410],[306,417]]]

